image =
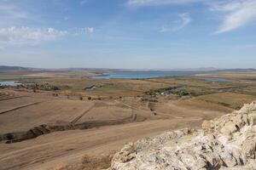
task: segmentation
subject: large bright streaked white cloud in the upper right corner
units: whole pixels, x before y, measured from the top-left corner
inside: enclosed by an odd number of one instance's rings
[[[216,3],[212,6],[212,10],[226,14],[224,22],[215,32],[216,34],[233,31],[256,20],[255,0],[233,0],[226,3]]]

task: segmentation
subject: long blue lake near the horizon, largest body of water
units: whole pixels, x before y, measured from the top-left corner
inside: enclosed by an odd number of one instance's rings
[[[112,71],[103,73],[100,76],[93,77],[96,79],[111,78],[154,78],[154,77],[181,77],[190,76],[199,73],[210,73],[212,71]]]

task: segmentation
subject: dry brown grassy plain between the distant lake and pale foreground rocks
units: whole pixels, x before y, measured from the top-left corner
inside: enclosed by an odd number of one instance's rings
[[[170,129],[200,127],[203,120],[256,98],[255,72],[139,80],[90,78],[94,75],[0,73],[0,81],[38,84],[0,89],[0,169],[105,168],[113,152],[127,142]],[[84,89],[92,85],[96,89]]]

